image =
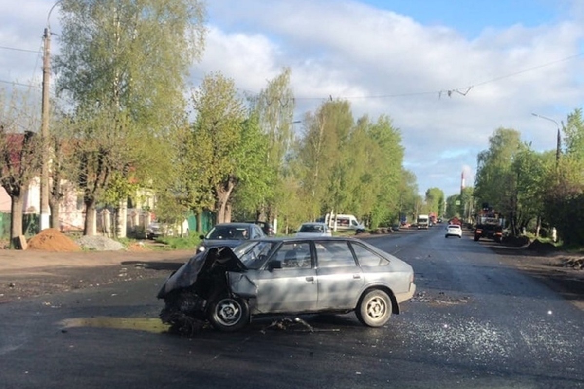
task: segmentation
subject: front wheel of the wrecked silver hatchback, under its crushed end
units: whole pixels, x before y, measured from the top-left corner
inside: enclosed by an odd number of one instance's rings
[[[208,319],[215,330],[241,330],[248,325],[249,318],[248,303],[239,297],[220,296],[209,306]]]

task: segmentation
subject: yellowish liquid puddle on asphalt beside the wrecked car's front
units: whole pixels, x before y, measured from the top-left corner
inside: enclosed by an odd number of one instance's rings
[[[158,333],[169,329],[169,325],[162,323],[159,318],[148,317],[76,317],[62,320],[60,324],[63,328],[98,327]]]

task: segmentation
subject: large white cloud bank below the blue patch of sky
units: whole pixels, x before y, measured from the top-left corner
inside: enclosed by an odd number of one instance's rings
[[[350,100],[356,117],[388,114],[402,132],[405,165],[418,177],[420,192],[428,187],[458,192],[463,170],[472,185],[471,166],[498,127],[521,131],[536,149],[552,149],[550,123],[534,120],[531,112],[562,118],[582,101],[582,58],[565,59],[579,52],[580,23],[487,26],[466,40],[451,27],[423,26],[355,2],[273,2],[258,12],[261,4],[221,8],[218,23],[225,29],[254,40],[260,34],[272,43],[263,42],[263,55],[258,45],[250,47],[257,62],[231,58],[239,63],[230,73],[236,84],[255,79],[259,90],[290,66],[304,110],[333,96]]]

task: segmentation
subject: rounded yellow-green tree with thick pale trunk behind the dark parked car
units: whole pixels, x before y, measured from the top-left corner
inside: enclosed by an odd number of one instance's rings
[[[194,179],[196,192],[211,194],[217,222],[231,220],[236,188],[249,185],[261,190],[266,177],[267,136],[262,134],[257,117],[248,117],[244,102],[237,97],[231,79],[211,73],[193,93],[197,113],[192,127],[200,164]],[[208,199],[208,197],[207,197]]]

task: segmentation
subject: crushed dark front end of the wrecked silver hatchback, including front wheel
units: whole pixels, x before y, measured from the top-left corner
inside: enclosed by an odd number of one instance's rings
[[[193,335],[207,321],[215,328],[236,330],[249,321],[246,303],[234,307],[237,298],[231,295],[228,272],[244,272],[244,264],[228,247],[214,247],[196,254],[166,279],[157,297],[164,299],[165,306],[159,317],[171,331]],[[217,307],[218,304],[220,307]],[[213,313],[212,309],[217,312]],[[221,311],[223,309],[223,311]],[[231,323],[232,317],[238,318]],[[231,321],[230,321],[231,320]],[[221,328],[227,323],[226,328]]]

